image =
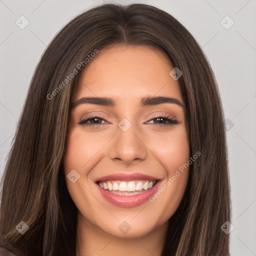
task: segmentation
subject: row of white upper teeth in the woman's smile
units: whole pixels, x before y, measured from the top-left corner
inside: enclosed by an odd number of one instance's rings
[[[106,190],[119,190],[119,191],[139,191],[151,188],[155,181],[140,180],[140,181],[113,181],[99,182],[99,186]]]

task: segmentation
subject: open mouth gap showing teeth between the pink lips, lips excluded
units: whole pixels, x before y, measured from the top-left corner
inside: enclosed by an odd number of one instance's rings
[[[98,181],[96,182],[102,189],[109,191],[111,193],[131,196],[140,194],[152,188],[156,180],[108,180],[108,181]]]

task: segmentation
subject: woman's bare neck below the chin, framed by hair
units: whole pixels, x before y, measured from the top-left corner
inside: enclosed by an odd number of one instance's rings
[[[160,256],[167,227],[168,221],[144,236],[122,238],[93,225],[78,211],[76,256]]]

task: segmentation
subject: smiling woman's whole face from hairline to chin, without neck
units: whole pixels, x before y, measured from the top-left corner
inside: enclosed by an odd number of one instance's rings
[[[137,237],[177,209],[188,178],[188,168],[179,167],[189,160],[189,143],[172,69],[164,53],[145,46],[111,46],[87,63],[73,93],[64,156],[78,220]]]

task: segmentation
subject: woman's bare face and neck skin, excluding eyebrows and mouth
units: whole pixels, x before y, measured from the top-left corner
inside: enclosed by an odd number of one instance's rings
[[[78,209],[76,255],[160,255],[168,219],[180,203],[189,169],[154,202],[130,208],[106,201],[94,181],[117,172],[140,172],[160,179],[161,187],[189,160],[183,107],[140,105],[145,96],[168,96],[182,102],[178,81],[169,75],[172,69],[160,50],[127,45],[105,48],[86,65],[72,101],[110,97],[116,106],[82,103],[70,112],[64,171]],[[91,126],[78,124],[94,114],[103,120],[87,121],[98,123]],[[155,115],[169,115],[178,124],[159,125]],[[131,123],[125,132],[117,125],[123,118]],[[66,176],[72,169],[80,175],[74,183]],[[127,233],[118,228],[123,221],[131,227]]]

